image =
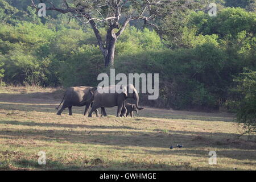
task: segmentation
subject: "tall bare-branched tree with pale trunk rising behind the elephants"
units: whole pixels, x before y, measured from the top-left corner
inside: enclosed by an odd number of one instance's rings
[[[31,2],[30,6],[39,10],[35,1],[31,0]],[[115,43],[130,21],[144,20],[144,24],[159,31],[155,20],[163,19],[162,10],[166,10],[166,7],[175,10],[175,3],[182,3],[184,0],[63,0],[61,8],[52,1],[39,0],[39,2],[46,3],[48,11],[69,14],[83,24],[90,24],[104,56],[105,67],[113,67]],[[106,41],[102,40],[98,23],[105,23],[107,27]],[[114,29],[118,31],[114,32]]]

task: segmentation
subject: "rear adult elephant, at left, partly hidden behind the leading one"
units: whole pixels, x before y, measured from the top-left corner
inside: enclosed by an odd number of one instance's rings
[[[68,107],[69,115],[72,115],[72,106],[85,106],[84,115],[88,113],[90,105],[93,103],[93,94],[97,90],[97,87],[90,86],[73,86],[69,87],[63,97],[63,100],[60,102],[60,105],[63,102],[63,106],[59,111],[57,111],[57,115],[61,115],[63,110]],[[60,105],[56,107],[59,109]],[[98,110],[94,109],[97,117]]]

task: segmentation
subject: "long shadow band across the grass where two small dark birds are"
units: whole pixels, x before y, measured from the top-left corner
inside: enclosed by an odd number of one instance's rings
[[[19,123],[19,122],[16,122]],[[84,126],[92,129],[95,126]],[[121,129],[122,127],[120,127]],[[127,150],[124,147],[154,147],[157,150],[143,150],[143,154],[157,155],[208,155],[207,151],[195,150],[200,148],[217,148],[218,156],[232,159],[256,159],[256,143],[248,143],[242,140],[230,140],[227,134],[222,133],[196,133],[203,136],[203,139],[195,139],[195,133],[187,131],[174,131],[172,134],[146,133],[142,131],[70,131],[70,130],[1,130],[2,138],[10,140],[45,140],[57,143],[80,143],[80,144],[100,144],[104,146],[115,146],[118,150]],[[230,135],[229,135],[230,136]],[[228,139],[227,139],[228,138]],[[180,143],[183,148],[180,150],[170,150],[169,147]],[[18,147],[22,144],[16,143]],[[124,149],[122,149],[124,148]],[[162,150],[159,150],[162,148]],[[137,152],[137,151],[135,151]],[[209,151],[208,151],[209,152]]]

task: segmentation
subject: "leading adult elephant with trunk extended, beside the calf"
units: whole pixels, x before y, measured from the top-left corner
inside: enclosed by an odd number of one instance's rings
[[[102,93],[102,90],[104,89],[105,92]],[[92,117],[92,113],[94,110],[101,107],[101,109],[104,109],[104,107],[114,107],[117,106],[117,117],[120,117],[122,107],[124,107],[124,101],[127,98],[133,98],[136,101],[135,106],[137,109],[141,110],[143,107],[139,107],[139,95],[137,90],[133,85],[127,85],[127,86],[105,86],[104,88],[99,88],[94,92],[94,101],[92,105],[92,109],[89,112],[88,117]],[[119,89],[119,92],[111,92],[110,90],[117,90]],[[103,110],[104,116],[106,116],[105,109]]]

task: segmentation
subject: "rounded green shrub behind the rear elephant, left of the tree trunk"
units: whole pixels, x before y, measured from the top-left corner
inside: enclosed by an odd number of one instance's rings
[[[100,49],[85,45],[71,53],[60,67],[60,83],[64,86],[97,86],[98,74],[105,72]]]

